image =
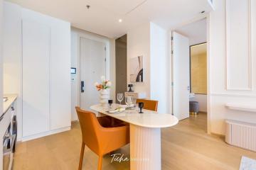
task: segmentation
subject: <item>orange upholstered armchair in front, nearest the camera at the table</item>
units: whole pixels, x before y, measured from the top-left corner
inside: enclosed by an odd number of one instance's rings
[[[97,169],[102,169],[103,155],[112,152],[129,143],[129,126],[111,128],[110,118],[96,118],[95,113],[82,111],[75,107],[82,130],[82,148],[79,170],[82,169],[82,159],[85,145],[99,156]]]

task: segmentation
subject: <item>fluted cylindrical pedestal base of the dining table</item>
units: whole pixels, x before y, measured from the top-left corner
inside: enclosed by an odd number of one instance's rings
[[[161,169],[161,130],[130,124],[130,169]]]

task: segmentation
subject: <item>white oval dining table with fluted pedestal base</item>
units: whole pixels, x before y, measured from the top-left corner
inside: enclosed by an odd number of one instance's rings
[[[117,108],[118,104],[112,104]],[[130,133],[130,169],[161,170],[161,128],[178,123],[178,119],[169,113],[157,113],[143,109],[108,113],[110,109],[100,104],[91,106],[92,111],[129,123]]]

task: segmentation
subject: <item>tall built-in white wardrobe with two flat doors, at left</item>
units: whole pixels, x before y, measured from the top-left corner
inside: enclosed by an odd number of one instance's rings
[[[6,6],[11,10],[11,6],[16,5],[6,3]],[[22,126],[19,126],[22,130],[18,131],[22,133],[20,140],[69,130],[70,23],[22,7],[16,10],[21,10],[20,19],[16,20],[20,28],[5,31],[10,36],[13,36],[11,31],[20,31],[16,35],[21,36],[20,54],[6,56],[13,58],[21,68],[18,73],[21,81],[17,84],[21,89],[21,111],[18,113],[18,120],[22,121]],[[7,15],[12,15],[11,11]],[[9,46],[7,50],[11,49],[11,43]],[[17,70],[12,72],[9,69],[9,72],[9,82],[5,86],[16,79]]]

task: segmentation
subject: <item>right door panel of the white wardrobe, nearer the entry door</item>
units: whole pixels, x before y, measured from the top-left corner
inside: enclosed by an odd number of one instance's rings
[[[51,30],[50,130],[71,124],[70,23],[55,20]]]

